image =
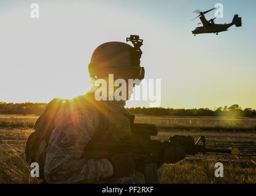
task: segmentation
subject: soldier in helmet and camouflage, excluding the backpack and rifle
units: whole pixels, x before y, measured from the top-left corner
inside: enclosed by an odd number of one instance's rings
[[[141,53],[127,43],[103,43],[91,56],[90,77],[93,81],[96,78],[109,81],[108,75],[114,74],[114,80],[142,80]],[[134,161],[129,154],[90,152],[93,141],[115,142],[131,134],[130,113],[124,108],[125,100],[97,101],[97,88],[93,85],[85,96],[70,100],[69,107],[61,108],[56,114],[45,159],[47,183],[141,183],[130,176]],[[127,97],[130,97],[132,89],[127,88],[127,91]]]

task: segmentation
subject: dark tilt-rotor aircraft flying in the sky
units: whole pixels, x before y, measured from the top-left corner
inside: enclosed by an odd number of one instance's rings
[[[212,8],[205,12],[201,12],[199,9],[194,11],[195,13],[199,13],[199,15],[196,18],[200,17],[199,19],[200,19],[201,23],[198,23],[198,25],[199,24],[203,25],[203,26],[196,27],[195,30],[192,31],[192,34],[194,34],[194,36],[196,36],[196,34],[201,34],[201,33],[215,33],[217,35],[219,32],[228,31],[228,28],[230,28],[230,26],[232,26],[232,25],[242,26],[242,20],[241,20],[241,17],[238,17],[238,14],[236,14],[234,16],[232,22],[229,24],[226,24],[226,23],[225,24],[215,24],[214,20],[216,17],[212,18],[209,21],[206,20],[206,18],[204,17],[204,14],[208,13],[214,9],[215,8]],[[196,18],[193,18],[192,20],[195,20]]]

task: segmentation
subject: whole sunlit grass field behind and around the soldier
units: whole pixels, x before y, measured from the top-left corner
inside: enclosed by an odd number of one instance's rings
[[[37,118],[0,115],[0,183],[36,183],[29,175],[24,150]],[[195,139],[204,135],[208,147],[241,151],[239,156],[197,154],[177,164],[164,164],[158,170],[160,183],[256,183],[256,119],[137,116],[136,123],[156,124],[159,132],[154,140],[168,140],[176,134]],[[216,162],[223,164],[223,178],[214,176]]]

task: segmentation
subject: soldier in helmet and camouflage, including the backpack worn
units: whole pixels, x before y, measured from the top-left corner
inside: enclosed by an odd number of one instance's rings
[[[133,93],[126,86],[126,99],[117,100],[106,93],[106,100],[98,100],[100,88],[96,80],[104,78],[107,89],[112,80],[144,78],[140,66],[142,40],[131,36],[134,47],[123,42],[107,42],[99,45],[88,66],[93,87],[87,94],[71,100],[53,99],[37,120],[36,132],[26,144],[26,161],[38,162],[41,183],[142,183],[131,176],[141,171],[128,153],[101,152],[90,149],[92,143],[117,142],[131,135],[134,116],[124,108],[125,100]],[[117,87],[113,87],[114,92]],[[109,97],[110,95],[110,97]],[[175,162],[184,159],[184,151],[175,149]]]

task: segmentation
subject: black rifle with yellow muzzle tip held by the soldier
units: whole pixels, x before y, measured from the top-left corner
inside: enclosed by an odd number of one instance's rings
[[[151,140],[150,136],[157,135],[158,130],[154,124],[133,123],[131,127],[131,138],[123,138],[118,142],[98,142],[91,143],[90,149],[93,151],[105,151],[115,153],[130,153],[133,154],[134,160],[142,166],[145,182],[154,184],[159,183],[157,168],[163,163],[173,163],[163,159],[166,148],[172,146],[182,146],[185,154],[196,153],[228,153],[232,155],[239,154],[237,148],[219,149],[206,148],[205,137],[201,136],[196,142],[193,137],[174,135],[168,141]],[[198,145],[202,141],[203,145]],[[106,154],[107,154],[106,153]],[[104,154],[104,153],[103,153]],[[86,155],[83,158],[87,157]],[[88,158],[88,157],[87,157]]]

